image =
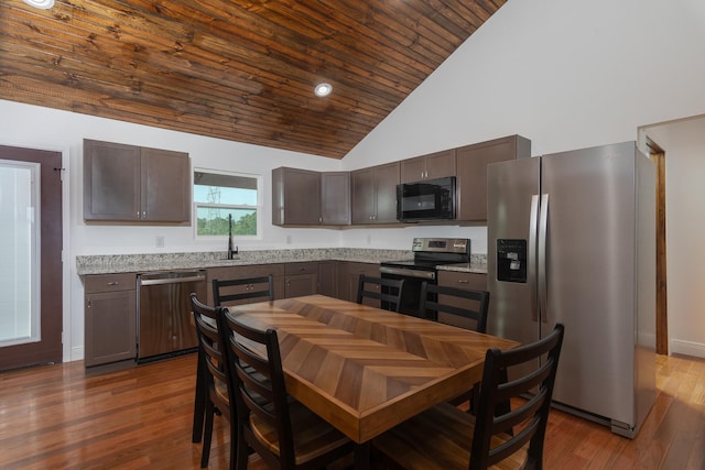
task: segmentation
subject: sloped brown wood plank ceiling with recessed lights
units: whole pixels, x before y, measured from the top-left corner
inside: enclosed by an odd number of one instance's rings
[[[3,0],[0,98],[341,159],[505,2]]]

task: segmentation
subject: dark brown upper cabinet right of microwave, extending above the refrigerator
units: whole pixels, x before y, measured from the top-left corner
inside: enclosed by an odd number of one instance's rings
[[[531,141],[509,135],[456,150],[456,219],[487,220],[487,165],[531,156]]]

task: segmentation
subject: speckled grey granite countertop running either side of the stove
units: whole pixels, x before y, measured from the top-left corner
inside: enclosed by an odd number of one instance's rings
[[[234,260],[226,253],[143,253],[143,254],[98,254],[76,256],[78,275],[151,272],[169,270],[194,270],[217,266],[246,266],[251,264],[295,263],[305,261],[351,261],[358,263],[381,263],[413,259],[410,250],[375,250],[361,248],[322,248],[291,250],[240,251]],[[441,270],[460,272],[487,272],[484,254],[471,255],[470,263],[438,266]]]

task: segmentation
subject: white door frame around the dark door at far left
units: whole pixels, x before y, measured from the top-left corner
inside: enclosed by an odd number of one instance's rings
[[[73,296],[72,296],[72,284],[73,276],[72,273],[76,270],[73,269],[73,264],[69,262],[74,258],[72,256],[70,251],[70,240],[69,240],[69,220],[70,220],[70,152],[68,144],[64,146],[58,146],[56,144],[37,144],[37,143],[28,143],[23,141],[13,141],[13,140],[0,140],[0,145],[7,146],[17,146],[20,149],[29,149],[29,150],[39,150],[39,151],[47,151],[47,152],[56,152],[62,154],[62,327],[63,327],[63,337],[62,337],[62,356],[63,361],[74,361],[83,359],[84,348],[83,341],[80,347],[74,350],[74,335],[78,335],[78,332],[74,332],[72,330],[73,319],[72,311],[82,311],[82,309],[72,308],[73,305]],[[74,263],[75,264],[75,263]],[[83,308],[83,307],[82,307]],[[83,321],[82,321],[83,325]]]

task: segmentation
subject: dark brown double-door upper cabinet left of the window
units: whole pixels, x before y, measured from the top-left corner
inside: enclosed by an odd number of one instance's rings
[[[191,222],[188,154],[84,140],[84,220]]]

